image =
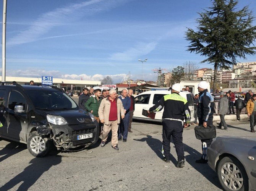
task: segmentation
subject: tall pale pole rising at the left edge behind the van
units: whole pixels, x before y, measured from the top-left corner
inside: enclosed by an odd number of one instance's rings
[[[5,42],[6,42],[7,0],[3,0],[3,36],[2,36],[2,81],[5,81]]]

